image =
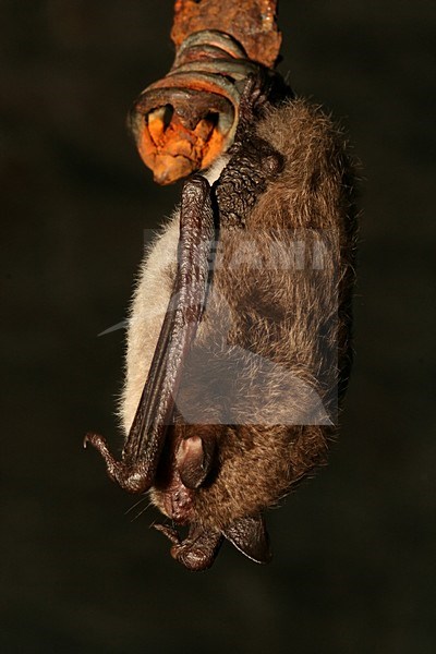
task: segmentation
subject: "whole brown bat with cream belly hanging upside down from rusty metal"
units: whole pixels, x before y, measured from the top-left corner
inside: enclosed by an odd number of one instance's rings
[[[264,511],[325,463],[351,364],[343,138],[318,108],[271,101],[271,88],[249,77],[234,144],[185,182],[145,257],[121,459],[85,438],[112,480],[171,520],[157,529],[190,570],[210,567],[223,540],[269,561]]]

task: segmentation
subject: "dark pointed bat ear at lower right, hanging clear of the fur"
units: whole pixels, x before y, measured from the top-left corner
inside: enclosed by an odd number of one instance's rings
[[[239,518],[222,531],[222,535],[256,564],[271,560],[269,536],[261,513]]]

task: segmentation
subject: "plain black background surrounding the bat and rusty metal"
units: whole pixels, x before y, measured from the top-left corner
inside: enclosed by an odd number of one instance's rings
[[[280,70],[342,120],[365,181],[343,427],[270,512],[272,564],[225,546],[186,572],[82,449],[121,443],[124,331],[97,335],[180,192],[124,124],[171,65],[172,4],[0,3],[1,652],[433,653],[433,0],[281,2]]]

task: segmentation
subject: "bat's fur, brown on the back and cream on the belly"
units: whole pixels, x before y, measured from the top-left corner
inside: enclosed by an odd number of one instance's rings
[[[283,156],[284,168],[245,229],[221,231],[171,429],[175,440],[196,434],[217,440],[209,483],[190,501],[191,519],[218,530],[274,506],[326,461],[350,365],[355,218],[342,136],[303,100],[269,109],[257,133]],[[210,174],[219,172],[218,165]],[[121,403],[126,433],[171,294],[178,238],[175,213],[142,265]],[[157,483],[150,496],[168,513],[168,488]]]

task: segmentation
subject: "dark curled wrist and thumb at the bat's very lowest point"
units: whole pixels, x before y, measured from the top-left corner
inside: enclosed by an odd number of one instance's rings
[[[172,558],[193,572],[201,572],[210,568],[222,543],[221,534],[214,530],[191,526],[187,537],[181,541],[173,528],[166,524],[155,524],[155,529],[173,543],[171,547]]]

